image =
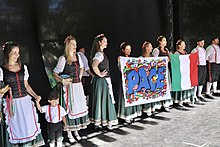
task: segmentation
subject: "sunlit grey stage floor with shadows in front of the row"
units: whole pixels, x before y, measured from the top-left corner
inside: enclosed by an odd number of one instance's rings
[[[90,125],[80,131],[80,142],[70,144],[65,139],[63,146],[220,147],[220,97],[192,106],[144,115],[131,125],[120,123],[111,132],[95,131]]]

